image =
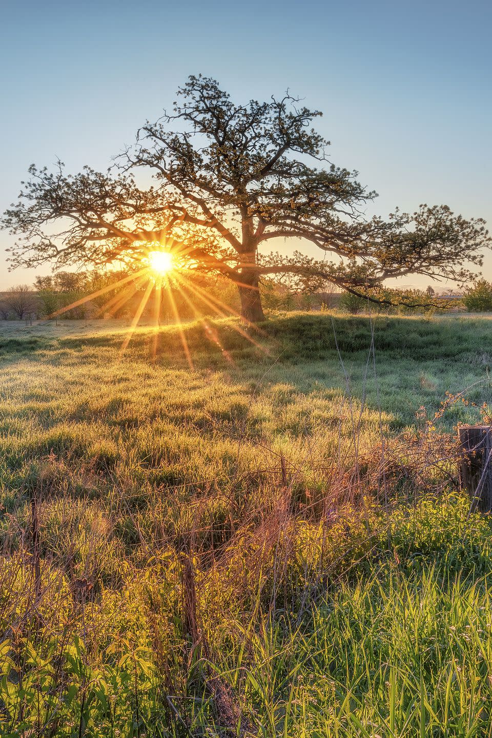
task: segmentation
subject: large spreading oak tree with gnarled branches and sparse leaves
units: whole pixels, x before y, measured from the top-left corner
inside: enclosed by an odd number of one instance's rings
[[[331,282],[355,294],[409,274],[469,279],[489,244],[485,222],[444,205],[364,218],[375,193],[329,162],[329,142],[311,127],[319,115],[290,94],[236,105],[215,80],[190,77],[173,113],[146,123],[109,173],[30,168],[4,214],[19,236],[10,261],[138,261],[159,244],[191,268],[233,280],[252,322],[263,319],[262,275]],[[142,171],[153,174],[151,186],[137,184]],[[310,242],[320,258],[267,255],[274,238]]]

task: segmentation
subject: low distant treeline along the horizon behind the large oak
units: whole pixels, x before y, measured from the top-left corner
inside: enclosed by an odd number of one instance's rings
[[[90,272],[56,272],[36,277],[32,285],[21,284],[0,293],[0,319],[25,320],[60,317],[65,320],[86,318],[134,317],[142,300],[144,319],[190,319],[201,315],[236,314],[240,310],[235,285],[221,277],[187,275],[170,279],[165,288],[155,285],[150,294],[148,282],[123,270],[91,270]],[[260,286],[263,306],[267,311],[339,309],[343,312],[429,313],[437,309],[492,311],[492,283],[478,280],[461,294],[437,294],[432,286],[418,289],[367,290],[363,295],[344,292],[327,285],[324,290],[309,292],[294,289],[282,280],[268,278]]]

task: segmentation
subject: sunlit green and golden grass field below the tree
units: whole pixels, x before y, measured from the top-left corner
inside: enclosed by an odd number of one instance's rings
[[[0,327],[0,734],[491,735],[490,325]]]

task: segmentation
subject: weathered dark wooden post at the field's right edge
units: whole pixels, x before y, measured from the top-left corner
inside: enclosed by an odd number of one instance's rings
[[[492,511],[492,427],[465,425],[458,430],[462,447],[460,483],[472,510]]]

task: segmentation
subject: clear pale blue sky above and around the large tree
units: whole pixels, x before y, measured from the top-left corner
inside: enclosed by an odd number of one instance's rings
[[[368,214],[446,203],[492,226],[491,27],[488,0],[0,0],[0,210],[32,162],[104,170],[201,72],[321,109],[330,158],[380,195]],[[9,243],[0,289],[35,275],[7,272]]]

